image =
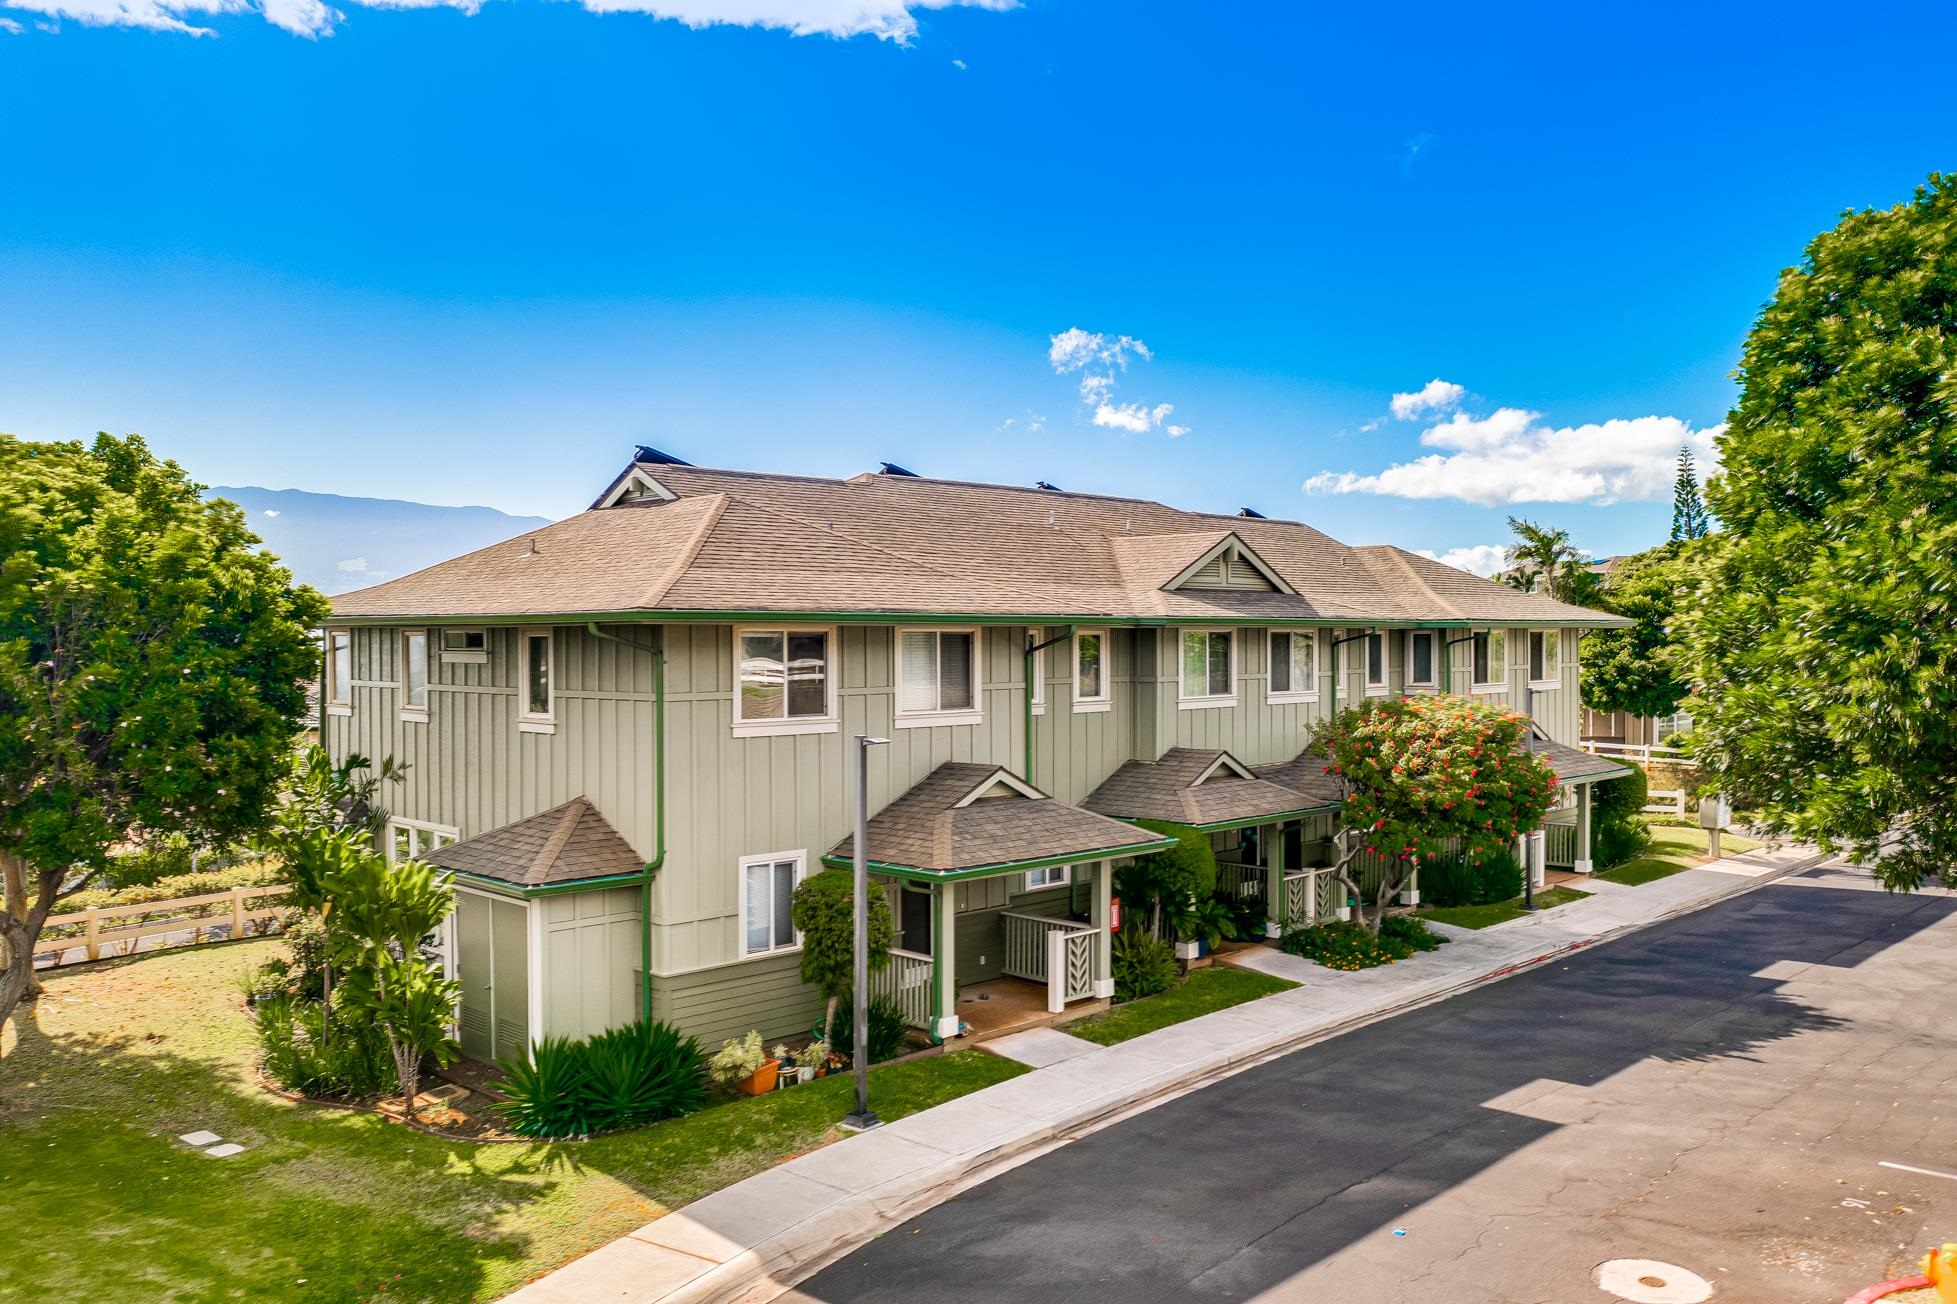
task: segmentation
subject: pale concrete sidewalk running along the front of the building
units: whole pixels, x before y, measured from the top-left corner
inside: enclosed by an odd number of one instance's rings
[[[793,1159],[650,1222],[509,1296],[515,1304],[769,1300],[824,1263],[957,1190],[1084,1130],[1274,1055],[1501,979],[1804,869],[1804,848],[1752,852],[1595,895],[1380,969],[1321,969],[1276,948],[1235,963],[1299,987],[1119,1046],[1065,1032],[1002,1038],[1035,1063],[1010,1083]]]

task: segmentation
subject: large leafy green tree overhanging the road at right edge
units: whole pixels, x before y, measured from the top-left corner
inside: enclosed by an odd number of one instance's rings
[[[1957,885],[1957,178],[1818,235],[1740,378],[1695,750],[1769,828]]]

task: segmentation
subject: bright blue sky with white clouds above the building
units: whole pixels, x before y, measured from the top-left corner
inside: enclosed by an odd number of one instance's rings
[[[646,441],[1616,552],[1779,268],[1957,166],[1947,6],[585,4],[0,0],[0,429],[542,515]]]

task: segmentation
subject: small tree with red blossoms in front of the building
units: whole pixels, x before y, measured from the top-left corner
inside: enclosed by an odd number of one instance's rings
[[[1317,728],[1313,750],[1344,785],[1333,877],[1378,932],[1386,903],[1421,862],[1442,854],[1485,860],[1534,830],[1556,801],[1556,771],[1523,746],[1528,719],[1466,697],[1376,699]],[[1386,873],[1360,899],[1354,862],[1374,854]]]

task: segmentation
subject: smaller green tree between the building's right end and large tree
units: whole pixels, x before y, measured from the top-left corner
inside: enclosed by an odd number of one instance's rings
[[[1671,715],[1687,693],[1673,629],[1693,583],[1687,544],[1660,544],[1611,566],[1595,605],[1634,621],[1583,634],[1583,705],[1591,711]]]

